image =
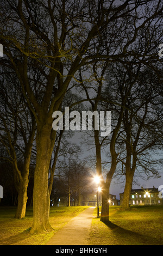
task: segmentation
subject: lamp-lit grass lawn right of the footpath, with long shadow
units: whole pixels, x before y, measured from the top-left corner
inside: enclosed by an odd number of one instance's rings
[[[163,245],[163,205],[110,206],[110,222],[93,218],[90,245]]]

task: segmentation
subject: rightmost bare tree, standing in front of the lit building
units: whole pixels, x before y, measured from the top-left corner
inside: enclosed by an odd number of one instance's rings
[[[126,175],[123,209],[129,208],[136,169],[148,177],[159,176],[156,170],[161,163],[156,154],[162,150],[162,97],[159,87],[160,79],[156,74],[149,69],[143,70],[127,100],[120,135],[122,143],[126,144],[120,157]]]

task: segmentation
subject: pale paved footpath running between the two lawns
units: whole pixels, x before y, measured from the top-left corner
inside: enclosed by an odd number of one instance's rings
[[[90,207],[58,230],[46,245],[89,245],[87,241],[95,207]]]

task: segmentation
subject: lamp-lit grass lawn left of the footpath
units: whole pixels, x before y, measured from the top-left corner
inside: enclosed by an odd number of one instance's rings
[[[89,206],[52,207],[49,222],[54,229],[48,233],[30,234],[33,223],[33,208],[27,207],[23,220],[14,219],[16,208],[0,207],[0,245],[45,245],[54,233]]]

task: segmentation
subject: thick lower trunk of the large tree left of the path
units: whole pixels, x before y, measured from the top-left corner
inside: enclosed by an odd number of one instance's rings
[[[48,170],[51,161],[53,143],[51,143],[51,125],[37,125],[36,135],[36,167],[34,173],[33,190],[33,225],[31,233],[47,231],[49,225],[49,190],[48,190]]]

